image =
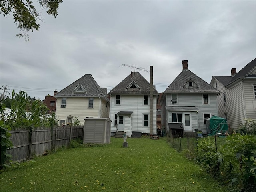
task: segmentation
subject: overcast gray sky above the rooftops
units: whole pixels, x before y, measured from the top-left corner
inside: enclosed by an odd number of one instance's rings
[[[15,37],[12,14],[1,15],[0,71],[1,86],[41,100],[84,74],[109,92],[134,71],[122,64],[153,66],[163,92],[182,60],[210,83],[256,58],[255,1],[64,1],[56,19],[38,10],[44,23],[30,41]]]

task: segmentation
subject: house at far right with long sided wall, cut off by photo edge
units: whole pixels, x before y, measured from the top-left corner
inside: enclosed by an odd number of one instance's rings
[[[211,85],[218,89],[219,116],[230,128],[238,129],[244,118],[256,119],[256,59],[231,76],[212,76]]]

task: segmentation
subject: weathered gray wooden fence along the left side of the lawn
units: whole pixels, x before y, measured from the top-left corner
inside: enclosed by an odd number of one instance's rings
[[[83,139],[84,126],[64,126],[54,128],[28,128],[10,131],[13,147],[8,150],[11,161],[21,162],[33,155],[42,155],[47,150],[68,146],[72,138]]]

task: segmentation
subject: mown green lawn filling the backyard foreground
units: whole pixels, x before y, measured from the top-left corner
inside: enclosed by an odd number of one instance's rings
[[[60,150],[1,172],[1,192],[227,192],[199,166],[159,140],[111,138]]]

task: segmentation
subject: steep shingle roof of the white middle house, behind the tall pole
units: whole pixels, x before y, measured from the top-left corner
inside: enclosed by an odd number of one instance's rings
[[[139,88],[128,88],[132,82],[136,82]],[[150,94],[150,83],[139,72],[132,72],[108,94]],[[155,88],[153,94],[158,94]]]

